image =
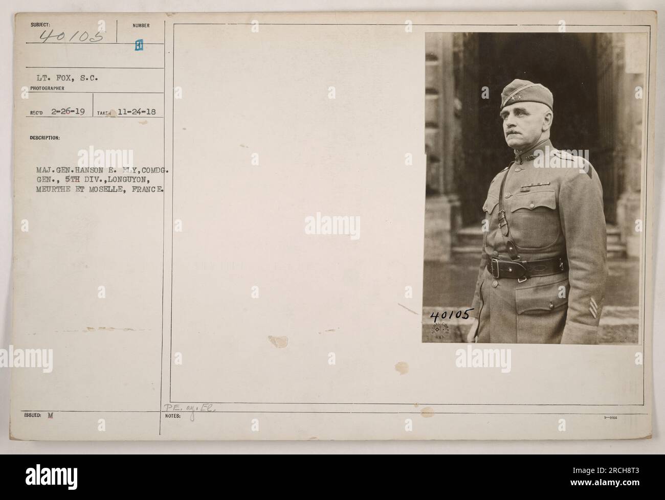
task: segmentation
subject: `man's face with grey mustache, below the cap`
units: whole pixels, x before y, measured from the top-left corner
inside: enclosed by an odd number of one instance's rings
[[[515,150],[533,146],[549,129],[552,112],[540,102],[516,102],[501,110],[505,142]]]

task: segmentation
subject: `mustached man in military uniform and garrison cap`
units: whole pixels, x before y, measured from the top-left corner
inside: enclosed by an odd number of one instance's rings
[[[607,279],[602,186],[549,140],[553,96],[513,80],[501,93],[515,161],[489,186],[467,342],[596,344]]]

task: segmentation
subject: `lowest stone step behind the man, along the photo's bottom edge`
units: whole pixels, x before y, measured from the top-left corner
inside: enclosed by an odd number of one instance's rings
[[[446,318],[450,311],[466,311],[462,307],[424,307],[422,309],[422,341],[423,342],[464,342],[464,336],[471,326],[473,318]],[[434,323],[432,314],[439,316]],[[632,306],[605,306],[600,316],[598,334],[599,344],[638,344],[640,310]],[[438,329],[437,329],[438,328]]]

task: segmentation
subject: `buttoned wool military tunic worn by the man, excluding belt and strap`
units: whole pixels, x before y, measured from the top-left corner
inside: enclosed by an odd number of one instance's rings
[[[503,209],[521,261],[567,256],[566,271],[519,283],[487,270],[492,258],[511,260],[498,215],[505,174]],[[597,343],[607,266],[602,187],[593,166],[545,140],[495,176],[483,210],[487,231],[469,313],[479,319],[476,341]]]

